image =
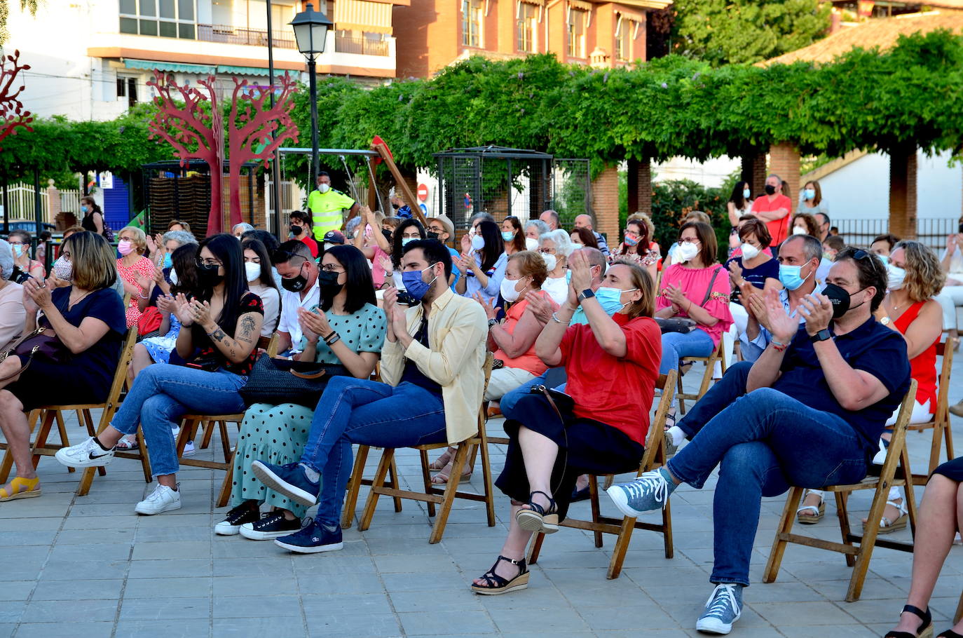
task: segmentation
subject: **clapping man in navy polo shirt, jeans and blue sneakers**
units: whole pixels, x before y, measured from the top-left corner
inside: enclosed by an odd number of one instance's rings
[[[839,254],[823,294],[798,306],[802,326],[770,291],[758,317],[772,334],[762,356],[733,366],[679,421],[691,441],[665,467],[609,489],[619,510],[638,517],[664,507],[680,483],[701,488],[720,466],[716,589],[697,630],[726,634],[739,619],[762,496],[866,476],[910,384],[906,342],[872,317],[885,292],[885,267],[853,249]]]

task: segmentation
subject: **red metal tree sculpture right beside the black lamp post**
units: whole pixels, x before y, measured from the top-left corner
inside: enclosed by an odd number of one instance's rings
[[[270,101],[266,103],[270,95],[268,91],[249,87],[247,80],[234,78],[231,112],[227,119],[231,226],[244,221],[241,216],[241,167],[244,163],[263,161],[267,168],[277,148],[286,140],[298,140],[298,126],[291,120],[294,107],[291,96],[297,85],[290,74],[285,73],[275,86],[280,93],[271,106]]]

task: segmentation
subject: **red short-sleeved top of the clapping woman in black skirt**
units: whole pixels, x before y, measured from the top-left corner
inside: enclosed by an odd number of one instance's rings
[[[560,365],[568,375],[565,393],[575,399],[576,416],[608,423],[644,445],[659,378],[662,332],[650,317],[629,319],[616,312],[612,319],[625,334],[622,359],[602,350],[585,324],[565,332],[560,346]]]

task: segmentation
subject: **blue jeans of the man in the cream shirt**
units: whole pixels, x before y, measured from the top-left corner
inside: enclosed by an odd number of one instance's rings
[[[351,443],[406,447],[446,440],[441,397],[420,385],[392,386],[354,377],[331,377],[311,420],[301,463],[324,477],[315,519],[341,523],[351,477]]]

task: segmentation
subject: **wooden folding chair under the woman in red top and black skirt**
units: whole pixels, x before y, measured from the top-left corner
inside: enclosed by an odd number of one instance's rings
[[[642,472],[653,470],[665,465],[665,416],[668,414],[669,407],[672,405],[672,395],[675,390],[676,371],[670,370],[665,375],[664,383],[661,385],[663,390],[662,399],[659,401],[659,408],[656,410],[655,418],[649,425],[649,435],[645,441],[645,453],[642,455],[641,463],[638,465],[636,476],[641,476]],[[658,385],[657,385],[658,387]],[[565,518],[559,525],[560,527],[574,527],[576,529],[586,529],[595,534],[595,546],[602,546],[602,534],[616,534],[615,549],[612,551],[612,560],[609,561],[609,572],[607,578],[618,578],[622,572],[622,563],[625,561],[625,553],[629,549],[629,542],[632,540],[632,532],[637,529],[647,529],[660,532],[663,535],[665,546],[665,558],[672,558],[672,514],[669,503],[666,501],[663,508],[662,523],[641,522],[637,518],[611,518],[603,517],[599,507],[598,477],[594,474],[588,475],[588,493],[591,502],[592,519],[581,520],[578,518]],[[541,532],[534,535],[532,546],[529,550],[529,565],[534,565],[538,560],[541,545],[545,541],[545,535]]]

